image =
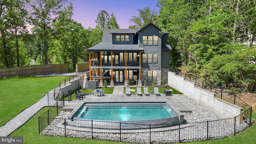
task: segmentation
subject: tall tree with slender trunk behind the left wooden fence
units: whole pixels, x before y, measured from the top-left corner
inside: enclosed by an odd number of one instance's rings
[[[56,30],[54,23],[64,22],[64,20],[60,20],[60,16],[62,16],[61,18],[72,16],[72,4],[70,3],[66,8],[64,7],[65,2],[67,0],[31,0],[28,3],[31,6],[30,24],[34,25],[34,32],[38,34],[43,42],[45,64],[48,64],[48,42],[53,35],[61,32],[60,29]],[[64,15],[63,12],[69,14]]]

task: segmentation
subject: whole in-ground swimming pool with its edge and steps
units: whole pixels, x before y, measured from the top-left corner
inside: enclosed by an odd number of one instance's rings
[[[166,102],[85,103],[72,117],[73,119],[129,121],[143,124],[180,122],[178,114]]]

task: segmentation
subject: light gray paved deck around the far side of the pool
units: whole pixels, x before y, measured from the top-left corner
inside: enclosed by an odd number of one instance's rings
[[[62,110],[70,111],[70,115],[72,116],[85,102],[166,102],[176,113],[192,112],[192,110],[177,100],[175,94],[172,96],[166,96],[164,94],[161,94],[161,96],[154,94],[150,94],[150,96],[138,96],[137,94],[126,96],[126,94],[124,94],[124,86],[115,86],[113,94],[106,94],[100,97],[87,95],[83,100],[73,100],[65,104]]]

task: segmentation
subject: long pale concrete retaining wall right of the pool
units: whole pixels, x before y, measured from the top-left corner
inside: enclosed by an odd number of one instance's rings
[[[173,72],[168,72],[168,85],[190,96],[193,100],[212,110],[222,118],[234,118],[244,110],[234,104],[215,98],[216,94],[196,87],[195,83],[188,82],[185,78],[177,76]]]

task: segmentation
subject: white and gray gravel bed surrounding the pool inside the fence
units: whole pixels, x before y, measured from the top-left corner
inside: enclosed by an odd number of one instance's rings
[[[234,135],[234,119],[224,119],[212,111],[208,110],[204,106],[192,100],[186,95],[175,95],[180,102],[190,108],[192,113],[184,113],[184,116],[188,118],[191,122],[188,124],[172,127],[162,128],[162,131],[151,132],[148,130],[138,130],[135,133],[111,133],[111,130],[102,130],[101,132],[91,132],[90,130],[82,131],[82,128],[78,126],[78,130],[74,128],[69,128],[68,126],[65,129],[63,128],[64,124],[63,118],[67,119],[67,115],[70,112],[60,112],[60,114],[54,119],[49,126],[47,126],[40,134],[48,136],[65,136],[72,138],[86,138],[86,139],[99,139],[99,140],[109,140],[109,141],[121,141],[122,142],[131,142],[138,144],[149,144],[150,141],[152,144],[160,143],[175,143],[175,142],[190,142],[190,141],[200,141],[210,140],[229,137]],[[210,121],[210,122],[207,122]],[[245,130],[249,125],[244,122],[244,120],[239,125],[236,122],[236,134]],[[60,126],[61,125],[61,126]],[[122,128],[121,128],[122,129]],[[208,131],[208,132],[207,132]],[[207,135],[208,133],[208,135]],[[180,138],[179,138],[180,136]]]

